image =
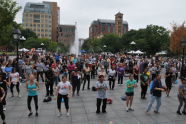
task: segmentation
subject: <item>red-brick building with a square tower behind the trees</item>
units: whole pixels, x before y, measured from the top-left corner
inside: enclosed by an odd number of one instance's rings
[[[128,31],[128,22],[123,21],[122,13],[115,15],[115,20],[97,19],[89,27],[89,38],[100,38],[105,34],[117,34],[122,36]]]

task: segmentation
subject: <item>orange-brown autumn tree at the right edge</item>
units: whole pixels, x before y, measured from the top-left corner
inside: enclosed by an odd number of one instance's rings
[[[173,24],[171,37],[170,37],[170,50],[174,54],[182,53],[181,40],[186,39],[186,27],[184,26],[185,22],[182,25]]]

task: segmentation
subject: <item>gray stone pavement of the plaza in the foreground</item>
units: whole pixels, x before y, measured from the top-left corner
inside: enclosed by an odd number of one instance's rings
[[[125,78],[126,80],[126,78]],[[91,80],[91,86],[96,80]],[[174,86],[170,97],[166,97],[165,93],[162,97],[162,106],[160,114],[145,114],[145,108],[148,100],[140,99],[140,87],[136,88],[134,98],[133,112],[125,111],[125,102],[120,100],[120,96],[124,93],[124,86],[116,85],[114,91],[108,91],[109,98],[113,99],[113,104],[107,105],[106,114],[96,114],[96,92],[81,91],[80,96],[70,98],[70,116],[65,114],[64,105],[62,104],[63,115],[57,117],[56,97],[52,102],[43,103],[45,96],[45,86],[41,84],[39,93],[39,116],[27,117],[27,93],[25,84],[21,85],[22,97],[11,98],[10,93],[7,97],[7,124],[185,124],[186,116],[178,116],[176,114],[177,86]],[[16,91],[15,91],[16,94]],[[32,101],[34,112],[34,104]],[[2,123],[0,121],[0,123]]]

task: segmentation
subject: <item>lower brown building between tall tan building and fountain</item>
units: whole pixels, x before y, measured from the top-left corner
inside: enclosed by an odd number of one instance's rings
[[[59,25],[57,28],[58,42],[65,46],[70,46],[75,40],[75,25]]]

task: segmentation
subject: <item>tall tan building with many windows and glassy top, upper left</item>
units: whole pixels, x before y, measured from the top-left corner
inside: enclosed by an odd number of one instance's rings
[[[56,2],[26,3],[22,21],[23,27],[34,31],[39,38],[57,41],[59,7]]]

